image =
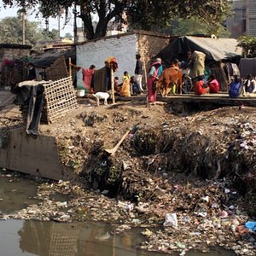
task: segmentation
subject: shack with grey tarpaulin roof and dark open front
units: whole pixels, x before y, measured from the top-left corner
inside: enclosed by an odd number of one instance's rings
[[[183,36],[174,38],[171,43],[157,54],[166,67],[177,58],[185,61],[188,51],[198,50],[206,55],[206,71],[213,73],[220,83],[220,90],[227,90],[230,77],[239,74],[239,61],[241,49],[236,47],[237,41],[234,38],[205,38]]]

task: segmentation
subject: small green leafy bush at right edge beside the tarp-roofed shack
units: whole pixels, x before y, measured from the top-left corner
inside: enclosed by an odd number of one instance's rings
[[[256,57],[256,37],[241,36],[237,39],[236,47],[242,49],[242,53],[247,58]]]

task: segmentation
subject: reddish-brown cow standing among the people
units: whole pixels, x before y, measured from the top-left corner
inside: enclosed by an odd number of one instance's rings
[[[167,96],[176,84],[179,88],[179,94],[183,94],[183,73],[178,67],[166,68],[160,75],[160,79],[156,82],[157,90],[161,90],[162,96]]]

